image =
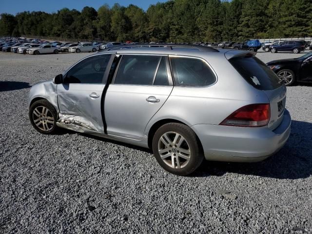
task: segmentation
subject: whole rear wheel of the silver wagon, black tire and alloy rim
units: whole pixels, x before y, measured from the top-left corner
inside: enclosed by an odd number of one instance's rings
[[[159,165],[178,176],[187,176],[194,172],[204,158],[195,132],[181,123],[167,123],[158,128],[153,137],[152,148]],[[160,154],[167,157],[162,159]]]

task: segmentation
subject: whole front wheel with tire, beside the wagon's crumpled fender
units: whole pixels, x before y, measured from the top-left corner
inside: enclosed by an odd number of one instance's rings
[[[42,134],[56,131],[58,113],[53,105],[45,99],[35,101],[29,108],[29,120],[33,127]]]

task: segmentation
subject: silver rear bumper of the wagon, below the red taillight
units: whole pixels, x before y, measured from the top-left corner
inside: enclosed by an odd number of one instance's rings
[[[257,162],[285,145],[291,132],[291,121],[285,110],[283,121],[274,130],[211,124],[196,124],[192,129],[201,141],[207,160]]]

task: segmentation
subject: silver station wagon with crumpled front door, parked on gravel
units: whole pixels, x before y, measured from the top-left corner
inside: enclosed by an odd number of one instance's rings
[[[256,162],[283,147],[286,87],[254,52],[157,46],[110,47],[34,85],[32,125],[151,148],[181,176],[204,158]]]

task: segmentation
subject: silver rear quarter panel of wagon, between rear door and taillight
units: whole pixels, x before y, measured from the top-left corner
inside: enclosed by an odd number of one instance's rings
[[[189,126],[217,125],[242,106],[269,103],[267,96],[248,84],[224,55],[202,58],[215,70],[216,83],[208,87],[175,86],[168,100],[148,123],[145,133],[161,119],[172,118]]]

